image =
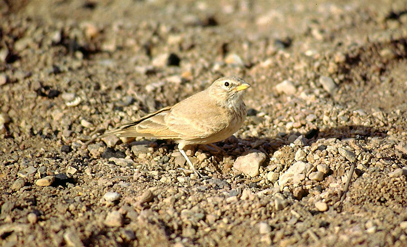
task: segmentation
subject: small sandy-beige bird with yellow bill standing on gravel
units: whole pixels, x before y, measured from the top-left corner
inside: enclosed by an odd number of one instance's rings
[[[101,135],[172,139],[191,170],[197,173],[184,148],[222,141],[244,124],[247,110],[243,91],[250,84],[236,76],[215,80],[207,89]],[[216,147],[216,146],[215,146]]]

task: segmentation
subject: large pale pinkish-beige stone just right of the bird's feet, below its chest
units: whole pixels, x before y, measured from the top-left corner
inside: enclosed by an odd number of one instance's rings
[[[236,159],[233,167],[251,177],[259,174],[260,165],[266,160],[266,154],[259,150],[249,150],[247,155],[243,155]]]

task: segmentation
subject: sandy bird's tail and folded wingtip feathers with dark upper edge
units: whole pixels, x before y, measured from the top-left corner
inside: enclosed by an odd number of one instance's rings
[[[119,137],[157,137],[161,139],[178,138],[179,134],[170,131],[165,124],[165,116],[171,112],[172,107],[165,107],[150,115],[144,116],[134,122],[107,132],[100,137],[117,135]]]

